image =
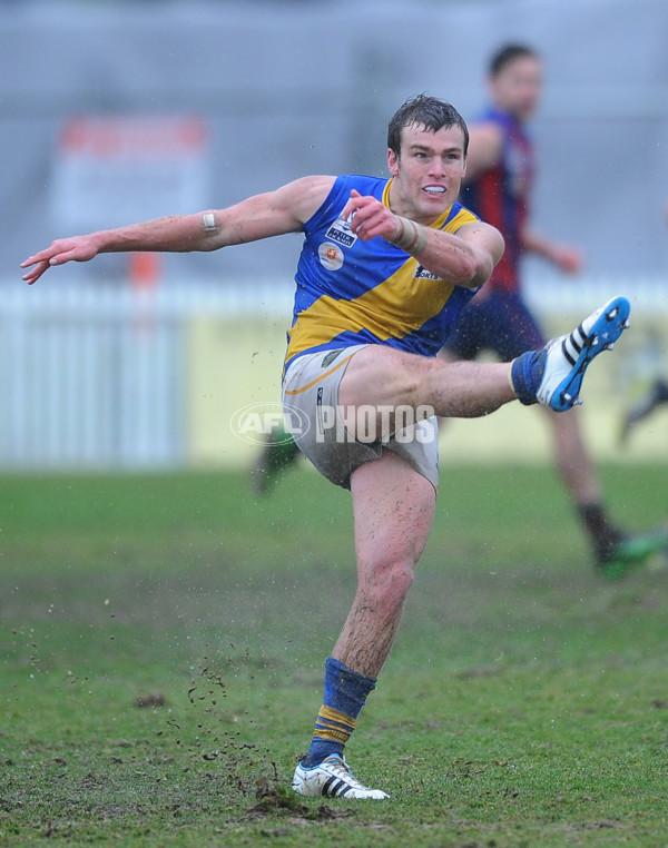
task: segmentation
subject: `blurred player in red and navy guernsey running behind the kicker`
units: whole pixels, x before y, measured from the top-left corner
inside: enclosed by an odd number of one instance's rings
[[[558,244],[531,226],[529,207],[536,171],[534,146],[527,132],[541,96],[543,68],[524,45],[505,45],[490,60],[489,106],[470,126],[471,140],[462,191],[464,206],[499,229],[505,250],[491,279],[463,309],[442,351],[446,359],[473,359],[490,351],[501,361],[543,343],[543,333],[521,290],[521,259],[542,257],[566,274],[582,266],[578,249]],[[621,576],[667,544],[665,531],[627,535],[610,519],[601,485],[583,443],[580,416],[548,411],[558,474],[590,539],[600,573]]]

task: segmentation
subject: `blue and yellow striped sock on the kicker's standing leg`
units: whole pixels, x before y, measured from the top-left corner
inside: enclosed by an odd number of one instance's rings
[[[318,766],[332,753],[343,755],[345,743],[355,729],[360,710],[366,696],[375,688],[373,678],[365,678],[348,669],[343,662],[327,658],[325,662],[325,694],[315,720],[315,731],[304,768]]]

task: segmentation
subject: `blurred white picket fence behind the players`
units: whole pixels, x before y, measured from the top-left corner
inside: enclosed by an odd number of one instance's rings
[[[610,280],[533,285],[546,312],[572,313],[617,294]],[[668,286],[633,284],[633,307],[668,315]],[[279,315],[292,283],[0,286],[0,469],[179,467],[188,462],[185,333],[198,315]]]

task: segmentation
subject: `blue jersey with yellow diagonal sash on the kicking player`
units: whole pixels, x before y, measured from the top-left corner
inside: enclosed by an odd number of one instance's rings
[[[435,356],[474,290],[455,286],[383,238],[363,241],[341,217],[351,190],[389,206],[392,180],[346,175],[303,227],[286,367],[304,353],[383,344]],[[478,220],[453,204],[431,226],[446,233]]]

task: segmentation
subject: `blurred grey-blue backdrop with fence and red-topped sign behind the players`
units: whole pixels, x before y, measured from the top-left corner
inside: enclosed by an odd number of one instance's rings
[[[299,238],[214,255],[19,263],[53,238],[227,206],[304,174],[385,172],[409,95],[472,118],[489,53],[544,57],[536,224],[584,275],[527,265],[548,329],[627,294],[633,332],[586,392],[599,458],[668,461],[658,414],[619,452],[633,392],[668,369],[665,0],[0,0],[0,469],[238,465],[230,430],[278,400]],[[595,366],[595,367],[598,367]],[[444,462],[542,458],[540,416],[455,422]],[[536,421],[534,421],[536,420]]]

